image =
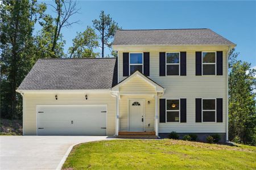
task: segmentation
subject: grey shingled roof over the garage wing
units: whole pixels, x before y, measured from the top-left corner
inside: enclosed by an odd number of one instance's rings
[[[116,58],[39,59],[18,90],[98,90],[117,84]]]

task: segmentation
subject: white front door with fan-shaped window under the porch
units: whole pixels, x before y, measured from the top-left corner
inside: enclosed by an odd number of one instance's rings
[[[143,100],[129,100],[129,131],[143,131]]]

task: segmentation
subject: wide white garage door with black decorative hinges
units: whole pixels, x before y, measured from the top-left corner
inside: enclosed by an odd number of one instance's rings
[[[106,135],[106,105],[38,105],[38,135]]]

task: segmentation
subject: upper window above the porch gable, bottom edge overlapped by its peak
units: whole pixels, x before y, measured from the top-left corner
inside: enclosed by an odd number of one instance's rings
[[[143,53],[130,53],[129,69],[130,75],[137,70],[143,73]]]

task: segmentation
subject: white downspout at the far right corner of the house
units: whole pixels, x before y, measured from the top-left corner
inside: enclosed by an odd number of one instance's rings
[[[226,142],[229,142],[229,52],[231,47],[228,47],[226,52]]]

